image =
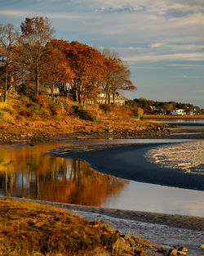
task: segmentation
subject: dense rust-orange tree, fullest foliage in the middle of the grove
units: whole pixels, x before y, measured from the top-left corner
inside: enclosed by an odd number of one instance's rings
[[[95,48],[75,41],[66,47],[66,56],[74,74],[71,84],[74,100],[85,104],[97,97],[105,74],[104,56]]]

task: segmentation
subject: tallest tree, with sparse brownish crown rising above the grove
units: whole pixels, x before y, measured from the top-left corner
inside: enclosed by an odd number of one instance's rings
[[[35,94],[38,95],[39,84],[43,73],[47,70],[47,43],[51,41],[55,30],[46,17],[26,18],[20,25],[22,46],[21,64],[29,72],[29,79],[35,84]]]

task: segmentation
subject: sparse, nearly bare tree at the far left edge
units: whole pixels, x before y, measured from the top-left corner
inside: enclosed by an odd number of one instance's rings
[[[13,49],[18,38],[19,33],[13,25],[0,25],[0,75],[4,88],[4,101],[7,101],[7,92],[14,82]]]

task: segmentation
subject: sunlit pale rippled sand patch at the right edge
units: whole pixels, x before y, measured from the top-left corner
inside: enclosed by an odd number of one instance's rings
[[[179,168],[185,173],[204,174],[204,141],[188,141],[149,150],[145,158],[163,168]]]

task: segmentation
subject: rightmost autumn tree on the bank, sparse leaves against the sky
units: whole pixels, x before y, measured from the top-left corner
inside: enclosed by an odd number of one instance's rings
[[[105,92],[105,102],[110,104],[110,95],[113,94],[113,102],[115,94],[118,90],[135,90],[136,87],[131,82],[131,72],[128,66],[118,56],[118,52],[110,51],[104,48],[103,52],[106,65],[106,74],[102,87]]]

